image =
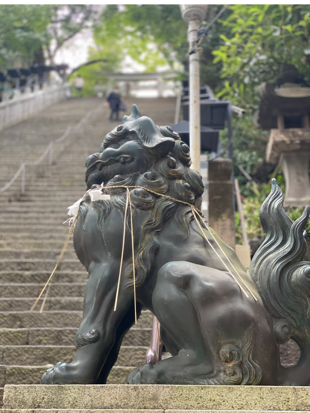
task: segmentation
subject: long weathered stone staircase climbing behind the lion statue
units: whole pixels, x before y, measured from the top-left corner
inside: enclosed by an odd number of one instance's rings
[[[133,103],[157,125],[173,123],[174,99],[128,99],[128,113]],[[0,193],[0,400],[5,384],[38,384],[49,366],[70,362],[75,353],[73,340],[88,274],[72,240],[43,313],[43,299],[30,309],[62,250],[69,230],[63,224],[67,207],[85,193],[85,159],[98,151],[105,134],[117,124],[108,122],[108,110],[99,99],[70,99],[0,132],[1,188],[22,162],[38,159],[51,140],[69,125],[78,125],[87,113],[82,126],[73,127],[67,139],[54,145],[52,165],[45,161],[26,169],[25,194],[20,194],[20,180]],[[124,383],[132,368],[144,363],[151,327],[152,315],[142,311],[124,338],[108,383]]]

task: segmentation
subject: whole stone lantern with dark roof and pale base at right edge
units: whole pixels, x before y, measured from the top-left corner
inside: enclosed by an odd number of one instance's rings
[[[267,162],[278,164],[285,178],[285,207],[310,204],[310,87],[292,65],[284,65],[275,83],[258,88],[256,123],[270,129]]]

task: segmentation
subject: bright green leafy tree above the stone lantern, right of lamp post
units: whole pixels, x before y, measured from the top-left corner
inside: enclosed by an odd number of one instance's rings
[[[219,97],[254,111],[256,86],[273,81],[281,64],[294,64],[310,79],[310,5],[233,5],[221,24],[226,33],[213,51],[224,79]]]

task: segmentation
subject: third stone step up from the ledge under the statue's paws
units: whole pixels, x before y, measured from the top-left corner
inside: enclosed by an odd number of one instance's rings
[[[141,316],[142,317],[142,316]],[[141,318],[137,324],[140,325]],[[8,346],[71,346],[73,345],[77,327],[42,327],[42,328],[0,328],[0,345]],[[149,346],[151,340],[151,324],[148,328],[135,325],[125,334],[125,346]]]

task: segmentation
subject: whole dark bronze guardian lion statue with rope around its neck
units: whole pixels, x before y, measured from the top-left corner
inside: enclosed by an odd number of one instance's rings
[[[247,271],[204,223],[202,177],[190,164],[178,134],[135,105],[87,159],[90,191],[74,230],[89,272],[77,351],[42,383],[106,383],[124,334],[146,307],[172,357],[140,365],[130,384],[309,384],[309,208],[291,222],[273,181],[261,209],[266,238]],[[92,200],[92,191],[110,199]],[[301,356],[285,368],[279,344],[291,338]]]

